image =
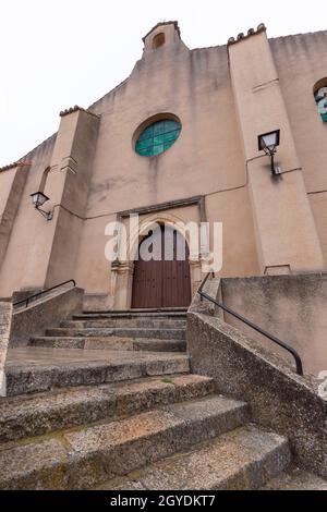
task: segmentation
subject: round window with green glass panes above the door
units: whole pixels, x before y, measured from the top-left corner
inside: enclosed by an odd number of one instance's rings
[[[147,126],[138,136],[135,151],[143,157],[155,157],[166,151],[179,138],[182,125],[174,119],[161,119]]]

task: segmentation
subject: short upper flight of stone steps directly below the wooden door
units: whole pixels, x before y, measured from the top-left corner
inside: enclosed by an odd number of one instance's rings
[[[87,350],[185,352],[185,309],[87,313],[62,321],[31,346]]]

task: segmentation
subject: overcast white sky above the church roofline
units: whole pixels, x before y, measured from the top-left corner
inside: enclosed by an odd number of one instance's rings
[[[261,22],[269,37],[327,28],[325,0],[0,0],[0,166],[56,132],[60,110],[87,107],[124,80],[142,54],[142,37],[159,21],[178,20],[189,48],[225,45]]]

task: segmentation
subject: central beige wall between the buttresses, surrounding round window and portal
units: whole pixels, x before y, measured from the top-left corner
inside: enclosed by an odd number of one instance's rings
[[[101,122],[77,266],[82,287],[110,290],[104,232],[117,211],[198,194],[207,220],[225,225],[223,275],[258,272],[226,47],[189,51],[179,41],[145,51],[129,81],[93,109]],[[157,112],[178,115],[182,133],[169,151],[148,159],[135,154],[133,135]],[[199,222],[196,207],[167,215]]]

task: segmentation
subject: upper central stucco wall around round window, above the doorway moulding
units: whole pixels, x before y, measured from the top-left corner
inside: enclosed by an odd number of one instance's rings
[[[160,48],[138,61],[129,81],[94,109],[101,124],[87,217],[213,193],[244,181],[223,47],[216,52],[190,52],[182,44]],[[181,136],[159,157],[141,157],[133,134],[157,112],[178,115]]]

